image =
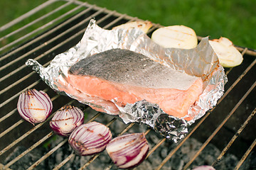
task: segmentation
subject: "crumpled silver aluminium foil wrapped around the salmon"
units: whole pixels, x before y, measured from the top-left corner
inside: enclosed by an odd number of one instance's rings
[[[139,52],[168,67],[203,79],[203,94],[188,110],[188,115],[195,115],[189,121],[184,120],[186,117],[175,118],[168,115],[158,105],[145,100],[127,103],[124,107],[117,106],[119,117],[122,118],[124,123],[144,123],[164,135],[164,137],[174,140],[174,142],[182,139],[188,132],[189,125],[216,105],[218,99],[223,95],[224,85],[228,81],[207,37],[203,38],[198,46],[191,50],[164,48],[153,42],[142,30],[125,30],[123,28],[105,30],[97,26],[93,19],[87,26],[82,40],[67,52],[56,55],[48,67],[43,67],[31,59],[26,64],[33,66],[33,70],[38,72],[41,79],[53,90],[90,105],[90,101],[72,96],[65,93],[65,91],[59,91],[58,79],[60,77],[65,78],[68,75],[68,69],[75,62],[113,48]]]

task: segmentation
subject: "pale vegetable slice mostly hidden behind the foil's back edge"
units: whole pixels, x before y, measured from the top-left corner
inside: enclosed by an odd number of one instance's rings
[[[117,28],[124,28],[124,29],[132,29],[132,28],[139,28],[143,30],[144,33],[147,33],[149,28],[151,28],[153,25],[150,21],[134,21],[129,23],[124,23],[122,25],[116,26],[112,29]]]

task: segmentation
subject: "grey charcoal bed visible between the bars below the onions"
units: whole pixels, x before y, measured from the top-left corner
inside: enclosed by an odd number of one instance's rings
[[[103,117],[103,118],[102,118]],[[105,118],[106,117],[106,118]],[[112,118],[110,116],[107,116],[105,114],[102,114],[99,117],[100,120],[104,120],[106,123],[110,121]],[[119,120],[114,121],[112,125],[110,125],[110,128],[112,130],[113,136],[116,136],[126,128],[127,125],[120,122]],[[131,129],[127,131],[127,133],[131,132],[145,132],[147,130],[146,125],[139,125],[134,124]],[[14,165],[10,166],[11,169],[26,169],[31,164],[36,162],[38,159],[40,159],[44,154],[50,151],[50,149],[53,149],[56,145],[58,145],[60,142],[65,140],[65,137],[60,137],[58,135],[54,135],[54,140],[50,140],[50,145],[48,145],[48,148],[46,147],[36,147],[31,152],[28,152],[23,158],[21,158],[18,162],[16,162]],[[149,142],[150,149],[154,147],[159,141],[161,141],[163,137],[154,130],[151,130],[147,135],[146,139]],[[175,148],[177,147],[178,143],[174,143],[172,140],[166,140],[163,144],[161,144],[147,159],[140,164],[137,169],[156,169],[159,164],[167,157],[167,155]],[[181,145],[181,147],[176,151],[176,153],[169,159],[168,162],[161,168],[164,170],[179,170],[182,169],[183,166],[185,166],[193,157],[196,152],[198,152],[198,149],[203,144],[201,142],[198,142],[198,140],[190,137],[186,142]],[[21,154],[24,150],[26,150],[25,147],[16,147],[13,153],[9,155],[9,157],[6,157],[6,164],[11,161],[11,159],[14,159],[18,154]],[[196,159],[193,161],[191,166],[189,166],[189,169],[193,169],[196,166],[200,165],[210,165],[212,164],[215,159],[217,159],[218,155],[220,154],[220,150],[215,147],[212,144],[206,145],[206,147],[202,150],[202,152],[196,157]],[[68,142],[65,142],[63,146],[58,148],[53,154],[50,154],[48,158],[46,158],[41,164],[36,166],[35,169],[53,169],[55,166],[58,166],[60,162],[62,162],[65,158],[67,158],[70,154],[74,153],[73,149],[70,147]],[[90,161],[92,156],[85,156],[80,157],[78,155],[75,155],[72,159],[70,159],[66,164],[64,164],[60,169],[80,169],[81,166],[84,166],[88,161]],[[95,159],[89,166],[87,166],[85,169],[90,170],[101,170],[105,169],[107,166],[110,166],[112,164],[112,161],[110,157],[108,156],[106,151],[103,151],[100,153],[99,157]],[[233,154],[225,154],[223,158],[220,160],[220,162],[215,166],[215,169],[234,169],[236,164],[238,164],[238,158],[235,157]],[[242,166],[242,170],[250,169],[250,167],[255,167],[256,159],[255,159],[255,153],[250,154],[250,157],[248,157],[246,165]],[[116,166],[112,165],[112,170],[118,169]]]

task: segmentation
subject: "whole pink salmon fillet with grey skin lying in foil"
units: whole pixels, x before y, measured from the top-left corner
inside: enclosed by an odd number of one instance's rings
[[[187,115],[188,108],[203,91],[200,77],[178,72],[137,52],[121,49],[107,50],[80,60],[70,67],[65,81],[60,90],[75,96],[90,96],[103,103],[112,101],[118,106],[145,99],[177,118]],[[102,105],[97,100],[93,102]]]

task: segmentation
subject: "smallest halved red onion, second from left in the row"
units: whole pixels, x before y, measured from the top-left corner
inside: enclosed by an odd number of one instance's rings
[[[58,135],[68,136],[75,128],[82,125],[83,121],[84,113],[82,113],[80,108],[63,106],[50,120],[50,128]]]

